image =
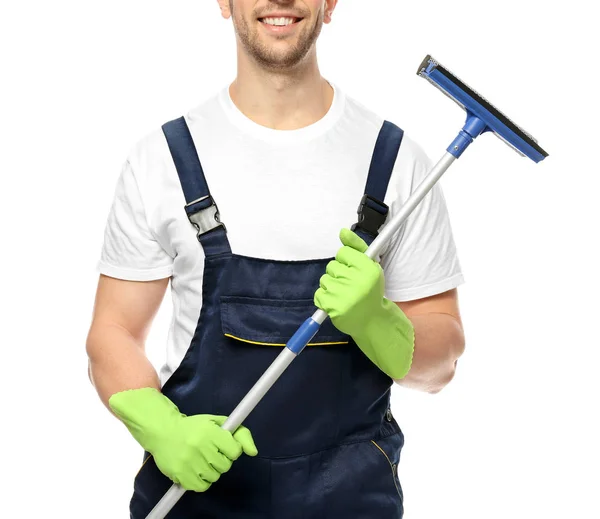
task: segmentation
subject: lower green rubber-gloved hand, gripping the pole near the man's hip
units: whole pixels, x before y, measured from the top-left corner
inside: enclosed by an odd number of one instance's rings
[[[250,431],[221,429],[225,416],[186,416],[154,388],[115,393],[109,406],[159,470],[186,490],[204,492],[227,472],[242,451],[256,456]]]

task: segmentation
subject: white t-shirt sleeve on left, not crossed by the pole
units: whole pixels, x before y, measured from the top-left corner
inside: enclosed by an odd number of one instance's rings
[[[135,174],[127,160],[117,181],[97,270],[130,281],[170,277],[173,258],[152,233]]]

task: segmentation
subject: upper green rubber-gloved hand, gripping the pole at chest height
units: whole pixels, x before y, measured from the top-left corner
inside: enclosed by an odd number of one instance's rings
[[[383,269],[363,254],[368,248],[364,240],[349,229],[341,230],[340,240],[343,247],[321,277],[315,305],[381,371],[401,379],[412,363],[413,325],[396,303],[384,297]]]

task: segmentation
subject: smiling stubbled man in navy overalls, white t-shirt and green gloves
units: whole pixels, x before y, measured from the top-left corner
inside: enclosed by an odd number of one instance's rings
[[[463,278],[439,186],[379,263],[363,254],[430,163],[321,76],[316,40],[336,3],[219,0],[236,79],[148,134],[121,173],[87,351],[102,401],[146,451],[132,518],[173,482],[188,492],[169,517],[402,517],[390,387],[452,379]],[[144,341],[169,279],[159,376]],[[331,320],[224,431],[317,307]]]

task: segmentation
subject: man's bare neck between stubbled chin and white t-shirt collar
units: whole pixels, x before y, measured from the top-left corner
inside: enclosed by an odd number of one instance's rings
[[[316,51],[293,70],[265,70],[238,49],[237,77],[229,95],[249,119],[274,130],[296,130],[323,118],[333,89],[321,77]]]

